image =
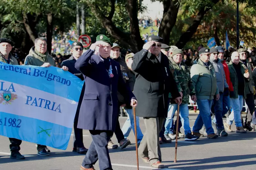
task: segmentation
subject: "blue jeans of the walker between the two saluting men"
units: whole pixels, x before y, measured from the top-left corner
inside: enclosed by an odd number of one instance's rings
[[[133,130],[133,133],[135,134],[134,130],[134,117],[132,114],[132,109],[125,109],[127,112],[127,120],[124,123],[124,126],[122,127],[122,132],[124,134],[125,140],[127,140],[127,137],[129,136],[131,129]],[[140,119],[138,116],[136,116],[136,126],[137,126],[137,142],[138,144],[143,138],[143,134],[140,130]]]

